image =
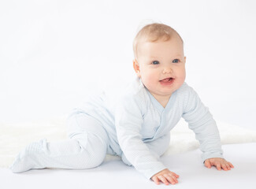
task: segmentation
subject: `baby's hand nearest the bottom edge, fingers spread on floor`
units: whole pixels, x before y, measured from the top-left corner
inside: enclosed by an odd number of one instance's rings
[[[164,169],[161,172],[158,172],[154,176],[151,177],[151,180],[154,181],[154,183],[159,184],[159,181],[165,183],[165,185],[169,185],[169,183],[176,184],[178,183],[177,178],[179,178],[178,175],[176,175],[175,172],[170,172],[169,169]]]

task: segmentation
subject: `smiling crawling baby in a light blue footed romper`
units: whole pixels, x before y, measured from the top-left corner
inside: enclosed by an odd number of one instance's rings
[[[68,118],[69,139],[30,143],[10,166],[12,172],[91,169],[112,154],[154,183],[175,184],[179,176],[159,158],[181,117],[195,132],[207,168],[234,167],[223,158],[212,115],[184,82],[186,57],[180,35],[165,24],[148,24],[135,36],[133,50],[135,80],[123,91],[102,92],[74,109]]]

